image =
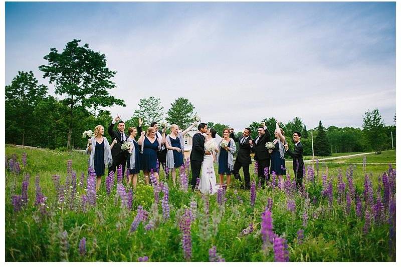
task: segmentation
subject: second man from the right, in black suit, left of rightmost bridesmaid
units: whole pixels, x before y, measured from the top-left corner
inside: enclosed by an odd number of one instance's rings
[[[254,159],[258,163],[258,177],[261,180],[262,185],[266,180],[265,168],[269,168],[270,172],[270,153],[266,148],[266,143],[270,142],[270,132],[266,127],[265,122],[258,128],[258,136],[255,141],[251,142],[251,149],[254,151]],[[270,174],[268,175],[268,180],[270,179]]]

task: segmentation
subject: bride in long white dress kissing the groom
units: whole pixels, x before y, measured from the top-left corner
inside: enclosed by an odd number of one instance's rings
[[[217,192],[218,189],[218,187],[216,186],[216,173],[213,162],[218,156],[217,153],[219,153],[217,141],[219,141],[221,137],[219,135],[216,135],[216,130],[214,129],[209,129],[208,132],[206,132],[206,135],[205,150],[209,150],[213,153],[212,155],[204,155],[204,161],[202,163],[202,173],[200,174],[198,189],[203,194],[213,195]]]

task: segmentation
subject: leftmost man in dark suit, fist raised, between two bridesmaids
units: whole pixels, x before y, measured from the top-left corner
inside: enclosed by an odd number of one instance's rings
[[[118,131],[114,131],[114,124],[117,123],[117,128]],[[127,161],[127,154],[122,151],[121,145],[127,140],[128,135],[125,134],[125,123],[123,121],[120,121],[120,116],[117,116],[113,119],[113,121],[110,123],[109,128],[107,129],[107,132],[109,133],[111,140],[116,139],[117,143],[113,146],[111,149],[111,156],[113,157],[113,164],[109,168],[109,172],[113,171],[114,173],[116,172],[116,168],[119,165],[122,165],[122,173],[123,173],[123,179],[124,179],[124,174],[125,174],[125,165]],[[138,133],[142,132],[142,120],[139,119],[139,126],[137,127]]]

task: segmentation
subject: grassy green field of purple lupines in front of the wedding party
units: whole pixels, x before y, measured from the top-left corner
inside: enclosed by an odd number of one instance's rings
[[[96,193],[87,160],[6,146],[6,261],[395,260],[395,166],[316,162],[297,190],[288,164],[203,196],[188,164],[176,187],[161,169],[133,191],[120,170]]]

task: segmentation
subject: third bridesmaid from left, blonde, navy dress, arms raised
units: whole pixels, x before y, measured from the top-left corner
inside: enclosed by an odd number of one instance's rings
[[[146,184],[149,184],[149,172],[153,170],[154,176],[158,180],[157,173],[157,151],[166,140],[165,129],[162,130],[162,138],[156,137],[156,129],[153,127],[147,128],[145,132],[141,132],[141,137],[138,139],[138,144],[141,146],[141,168],[145,176]]]

